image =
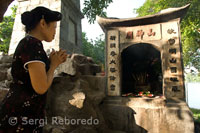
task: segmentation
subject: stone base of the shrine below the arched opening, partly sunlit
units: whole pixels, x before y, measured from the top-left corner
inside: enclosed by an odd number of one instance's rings
[[[112,130],[127,133],[194,133],[192,112],[180,99],[106,98],[101,111]]]

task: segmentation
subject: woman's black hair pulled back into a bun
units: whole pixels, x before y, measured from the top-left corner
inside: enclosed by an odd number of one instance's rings
[[[46,23],[60,21],[62,19],[62,14],[42,6],[36,7],[31,11],[24,12],[21,15],[21,21],[22,24],[25,25],[26,33],[34,29],[42,18],[46,21]]]

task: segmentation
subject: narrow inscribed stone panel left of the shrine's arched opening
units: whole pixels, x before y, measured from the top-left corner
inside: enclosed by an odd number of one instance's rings
[[[109,96],[120,96],[119,31],[107,32],[107,90]]]

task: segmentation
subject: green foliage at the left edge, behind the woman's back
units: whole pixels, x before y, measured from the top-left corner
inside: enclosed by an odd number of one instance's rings
[[[5,16],[0,23],[0,51],[8,53],[17,6],[11,8],[12,14]]]

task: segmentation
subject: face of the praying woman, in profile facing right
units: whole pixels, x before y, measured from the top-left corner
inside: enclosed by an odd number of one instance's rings
[[[51,42],[56,34],[56,27],[57,27],[57,22],[50,22],[48,24],[46,24],[45,28],[44,28],[44,40],[46,42]]]

